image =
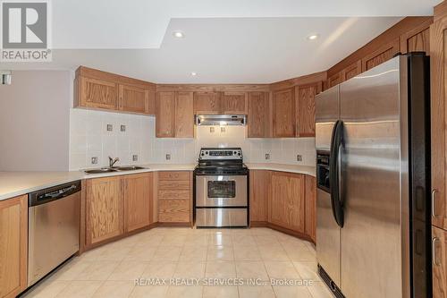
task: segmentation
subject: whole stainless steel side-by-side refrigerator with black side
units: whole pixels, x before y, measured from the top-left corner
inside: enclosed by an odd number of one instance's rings
[[[430,297],[429,58],[316,96],[316,257],[336,297]]]

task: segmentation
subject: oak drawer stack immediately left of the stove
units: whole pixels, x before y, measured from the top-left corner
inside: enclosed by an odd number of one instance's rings
[[[157,179],[158,222],[189,224],[192,221],[192,173],[159,172]]]

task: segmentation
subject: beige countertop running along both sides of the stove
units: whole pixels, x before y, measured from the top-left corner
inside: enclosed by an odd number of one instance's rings
[[[143,170],[112,172],[87,175],[84,171],[67,172],[0,172],[0,200],[10,199],[22,194],[36,192],[47,187],[70,183],[80,179],[100,178],[114,175],[131,175],[156,171],[192,171],[196,165],[142,165]],[[270,170],[315,176],[314,166],[295,166],[283,164],[247,164],[251,170]]]

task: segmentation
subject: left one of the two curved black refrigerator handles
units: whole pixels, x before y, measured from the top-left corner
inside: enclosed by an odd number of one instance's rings
[[[333,217],[337,225],[343,227],[343,207],[340,193],[340,148],[343,144],[343,123],[337,121],[333,126],[333,136],[331,140],[331,156],[329,161],[329,179],[331,186],[331,205],[333,208]]]

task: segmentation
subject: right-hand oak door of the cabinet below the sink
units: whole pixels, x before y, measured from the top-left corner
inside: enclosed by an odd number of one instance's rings
[[[151,224],[152,173],[122,178],[125,231],[131,232]]]

